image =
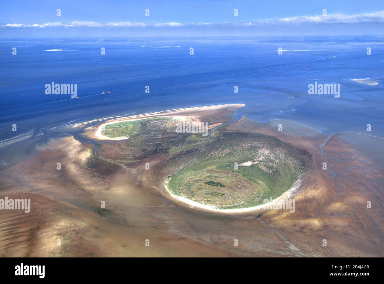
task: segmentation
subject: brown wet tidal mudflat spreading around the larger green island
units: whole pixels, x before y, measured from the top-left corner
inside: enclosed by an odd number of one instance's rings
[[[209,125],[230,121],[238,108],[178,112]],[[167,115],[167,113],[164,113]],[[1,256],[384,256],[382,143],[372,138],[326,136],[281,122],[242,120],[228,130],[276,136],[310,152],[313,167],[295,195],[295,213],[257,210],[221,214],[190,208],[167,194],[159,181],[166,155],[132,152],[127,169],[96,158],[93,145],[73,137],[56,141],[35,158],[0,173],[0,198],[31,199],[31,212],[0,210]],[[276,123],[278,124],[278,123]],[[95,131],[96,127],[88,128]],[[90,137],[92,135],[89,135]],[[348,140],[353,139],[353,143]],[[103,157],[121,159],[108,141]],[[375,144],[376,143],[376,144]],[[362,146],[364,144],[364,146]],[[381,146],[382,147],[382,146]],[[364,149],[369,148],[369,151]],[[322,169],[326,161],[328,170]],[[61,170],[56,163],[61,163]],[[145,164],[151,169],[146,170]],[[101,208],[101,202],[106,206]],[[367,208],[367,201],[371,208]],[[323,246],[323,240],[327,246]],[[60,240],[61,246],[57,246]],[[148,243],[149,246],[146,246]],[[238,246],[234,246],[238,240]]]

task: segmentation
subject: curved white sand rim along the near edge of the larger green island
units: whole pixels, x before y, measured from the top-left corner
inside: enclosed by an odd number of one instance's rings
[[[164,187],[166,188],[167,192],[169,193],[169,195],[172,198],[177,199],[177,200],[183,202],[186,205],[192,205],[193,207],[204,209],[204,210],[209,210],[209,211],[212,211],[212,212],[220,212],[220,213],[246,213],[246,212],[252,212],[252,211],[256,211],[256,210],[260,210],[260,209],[267,210],[267,208],[270,207],[271,205],[278,205],[278,204],[281,204],[281,202],[285,201],[286,199],[290,199],[300,189],[302,180],[301,180],[300,177],[298,177],[298,179],[295,181],[295,183],[292,185],[292,187],[290,189],[288,189],[287,191],[283,192],[283,194],[281,194],[278,198],[272,200],[272,202],[268,202],[268,203],[257,205],[257,206],[253,206],[253,207],[235,208],[235,209],[218,209],[218,208],[216,208],[216,207],[214,207],[212,205],[202,204],[202,203],[190,200],[190,199],[188,199],[186,197],[183,197],[183,196],[180,196],[180,195],[174,195],[168,189],[168,187],[166,185],[166,182],[167,181],[164,181],[163,184],[164,184]]]

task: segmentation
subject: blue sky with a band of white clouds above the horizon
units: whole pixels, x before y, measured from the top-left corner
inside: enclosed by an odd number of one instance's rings
[[[56,10],[61,16],[56,16]],[[149,17],[145,10],[149,9]],[[238,16],[233,10],[238,10]],[[327,16],[323,16],[323,9]],[[383,34],[383,0],[1,1],[0,37]]]

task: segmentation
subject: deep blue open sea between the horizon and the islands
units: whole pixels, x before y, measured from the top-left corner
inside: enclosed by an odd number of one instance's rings
[[[0,170],[65,135],[63,125],[223,103],[245,103],[235,116],[255,121],[384,138],[382,37],[3,38],[0,64]],[[352,80],[366,78],[378,84]],[[340,84],[340,97],[309,95],[315,81]],[[79,98],[46,95],[51,82],[77,84]]]

